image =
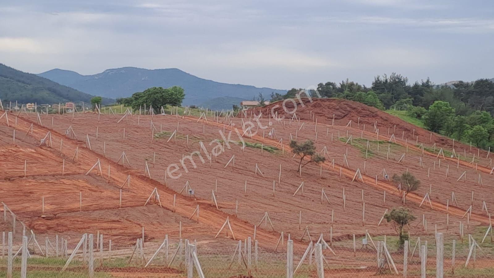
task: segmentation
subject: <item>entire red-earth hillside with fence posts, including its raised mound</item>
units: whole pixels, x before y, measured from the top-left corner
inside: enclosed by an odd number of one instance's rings
[[[272,105],[276,104],[280,102]],[[272,105],[256,111],[276,109]],[[275,111],[282,116],[280,110]],[[183,111],[179,112],[182,115]],[[36,113],[21,113],[15,127],[7,125],[6,117],[0,119],[0,175],[4,177],[0,180],[0,194],[9,211],[15,213],[14,250],[19,248],[23,230],[19,222],[37,238],[49,237],[54,241],[58,235],[59,240],[67,239],[69,250],[74,250],[82,234],[99,233],[104,248],[98,250],[97,256],[104,258],[105,265],[125,260],[120,265],[150,276],[147,272],[165,273],[165,266],[177,268],[177,273],[183,269],[183,259],[165,259],[166,254],[175,254],[180,240],[187,238],[204,250],[196,255],[207,270],[205,277],[236,277],[246,273],[245,268],[239,270],[237,256],[231,269],[224,261],[238,254],[239,240],[247,239],[247,243],[240,242],[242,248],[252,247],[248,237],[253,239],[255,231],[254,246],[260,248],[254,247],[253,252],[247,251],[243,256],[248,260],[249,253],[258,252],[262,263],[253,270],[255,277],[270,278],[281,277],[278,274],[286,270],[288,234],[296,239],[293,253],[297,258],[302,257],[307,244],[324,236],[332,249],[321,252],[332,262],[337,256],[337,264],[330,270],[336,275],[326,277],[371,277],[376,272],[373,243],[355,251],[352,247],[360,247],[365,235],[383,246],[385,235],[386,248],[402,271],[403,251],[397,244],[395,226],[383,221],[382,216],[386,211],[405,207],[414,216],[406,228],[411,234],[410,246],[407,245],[411,252],[418,245],[418,238],[421,242],[427,240],[428,259],[435,260],[434,239],[440,233],[444,250],[451,250],[452,240],[456,240],[455,255],[465,260],[471,249],[466,238],[458,239],[455,228],[462,222],[465,234],[471,234],[471,240],[478,239],[482,248],[483,253],[478,252],[476,257],[477,266],[492,265],[492,243],[489,239],[481,242],[490,223],[482,207],[491,211],[494,206],[494,196],[490,194],[494,176],[489,175],[491,167],[485,166],[490,161],[488,152],[455,143],[461,157],[452,158],[451,139],[431,138],[418,127],[409,133],[409,125],[396,117],[348,100],[305,101],[304,106],[297,105],[299,121],[290,120],[288,114],[280,122],[263,117],[256,121],[258,126],[252,134],[242,137],[239,129],[248,123],[249,112],[243,119],[220,117],[217,121],[212,120],[210,113],[209,120],[198,115],[143,113],[129,115],[124,121],[119,120],[124,119],[122,114],[99,117],[94,113],[75,113],[38,118]],[[315,117],[311,117],[314,113]],[[9,118],[14,115],[9,113]],[[348,125],[350,120],[352,124]],[[41,122],[49,124],[43,126]],[[66,133],[68,126],[74,130],[74,136]],[[14,128],[17,134],[25,136],[12,141]],[[233,132],[228,142],[218,141],[218,131],[222,129],[225,134]],[[40,146],[48,132],[51,140]],[[391,141],[389,133],[395,134]],[[319,165],[309,163],[303,167],[303,173],[298,173],[296,168],[301,160],[294,157],[296,154],[288,146],[292,138],[312,140],[315,150],[326,161]],[[245,141],[245,147],[240,141]],[[219,149],[221,143],[225,143],[224,151],[214,158],[205,156]],[[127,158],[122,162],[124,154]],[[184,159],[185,164],[180,162]],[[475,167],[470,163],[472,160]],[[167,169],[170,165],[176,167],[173,172]],[[111,169],[109,174],[107,169]],[[405,200],[394,178],[403,173],[410,173],[421,182]],[[187,188],[194,193],[189,194]],[[2,222],[4,231],[13,230],[13,215],[9,211],[7,221]],[[196,213],[199,211],[200,214]],[[220,231],[222,227],[225,229]],[[143,253],[150,258],[164,237],[170,247],[159,251],[160,256],[150,268],[129,259],[136,239],[145,242]],[[109,240],[112,251],[107,248]],[[32,248],[30,252],[45,257],[43,250]],[[48,256],[55,259],[54,250],[48,250]],[[62,252],[65,253],[68,252]],[[417,256],[410,260],[412,273],[420,268],[418,261]],[[52,269],[59,273],[64,264],[62,261]],[[307,268],[300,268],[298,274],[314,277],[306,263],[304,266]],[[355,274],[355,266],[364,268]],[[1,263],[0,267],[5,269]],[[80,265],[74,267],[87,272]],[[129,269],[112,270],[125,273]]]

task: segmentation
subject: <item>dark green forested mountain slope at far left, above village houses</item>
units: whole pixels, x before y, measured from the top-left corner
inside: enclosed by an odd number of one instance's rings
[[[25,73],[0,64],[0,99],[3,103],[7,101],[38,104],[90,102],[91,97],[93,95],[60,85],[36,74]],[[112,102],[113,99],[103,99],[103,103]]]

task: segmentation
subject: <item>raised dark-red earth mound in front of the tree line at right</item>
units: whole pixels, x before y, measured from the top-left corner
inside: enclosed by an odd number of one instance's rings
[[[365,124],[366,131],[373,131],[374,124],[379,129],[380,135],[395,134],[395,137],[413,138],[418,136],[418,142],[437,142],[441,146],[452,147],[453,141],[446,137],[419,128],[398,117],[383,112],[375,107],[365,105],[346,99],[336,98],[294,98],[280,100],[264,107],[255,107],[247,110],[247,117],[263,114],[263,118],[277,117],[290,119],[295,114],[302,121],[315,121],[318,123],[331,125],[347,125],[352,120],[352,127],[359,126],[361,129]],[[311,118],[311,115],[313,118]],[[242,114],[239,114],[241,117]],[[464,146],[466,147],[466,146]]]

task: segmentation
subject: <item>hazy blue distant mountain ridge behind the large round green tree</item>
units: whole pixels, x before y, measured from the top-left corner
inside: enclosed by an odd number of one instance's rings
[[[202,103],[223,96],[252,99],[262,93],[266,98],[274,93],[286,93],[286,90],[256,88],[240,84],[226,84],[202,79],[179,69],[141,69],[124,67],[108,69],[94,75],[81,75],[77,72],[53,69],[39,74],[57,83],[80,90],[85,93],[111,98],[127,97],[132,93],[142,92],[150,87],[180,86],[185,90],[185,105]],[[225,102],[219,109],[230,109],[230,102]]]

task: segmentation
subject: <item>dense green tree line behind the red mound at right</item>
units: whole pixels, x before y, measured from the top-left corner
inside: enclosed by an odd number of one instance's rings
[[[374,77],[371,87],[347,79],[340,83],[319,83],[316,90],[305,93],[358,101],[381,110],[406,110],[430,131],[488,148],[494,146],[493,81],[479,79],[435,85],[427,78],[410,84],[407,77],[392,73]],[[272,93],[271,102],[294,98],[301,91],[292,88],[286,94]]]

